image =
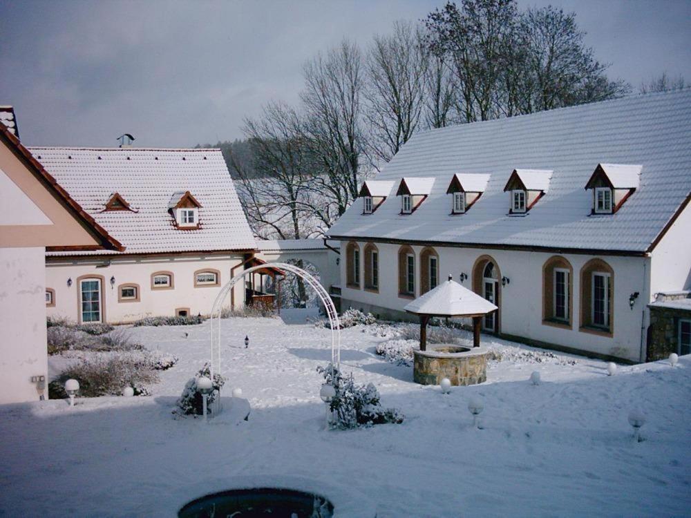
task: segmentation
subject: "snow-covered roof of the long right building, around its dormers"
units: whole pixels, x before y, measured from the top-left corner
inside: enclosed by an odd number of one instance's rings
[[[691,193],[690,121],[687,89],[418,133],[377,180],[434,176],[428,200],[404,216],[393,197],[373,214],[352,206],[328,236],[644,253]],[[583,189],[601,163],[643,166],[638,189],[606,216],[591,215]],[[524,218],[507,214],[503,189],[514,169],[553,171],[549,193]],[[449,215],[446,189],[459,170],[491,178],[472,211]]]

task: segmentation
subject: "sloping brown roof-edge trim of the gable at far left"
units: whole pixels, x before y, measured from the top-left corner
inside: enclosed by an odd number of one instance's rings
[[[55,178],[44,169],[44,166],[33,157],[30,151],[19,142],[19,139],[15,135],[10,133],[7,126],[4,124],[0,124],[0,140],[5,142],[8,148],[10,148],[10,151],[12,151],[12,153],[27,166],[28,170],[46,186],[48,191],[55,195],[55,198],[61,202],[63,207],[66,207],[66,209],[75,216],[77,221],[82,224],[82,227],[102,243],[104,249],[124,251],[125,247],[122,246],[120,241],[108,234],[91,215],[88,215],[88,213],[73,200],[67,191],[57,183]]]

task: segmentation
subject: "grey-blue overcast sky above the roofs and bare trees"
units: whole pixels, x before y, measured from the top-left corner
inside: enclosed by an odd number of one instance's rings
[[[303,63],[343,37],[365,46],[445,0],[0,0],[0,104],[28,145],[193,146],[242,137],[270,99],[296,102]],[[691,80],[691,1],[552,0],[576,12],[609,75]]]

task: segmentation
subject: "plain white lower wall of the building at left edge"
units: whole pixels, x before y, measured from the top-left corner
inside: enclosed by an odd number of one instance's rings
[[[31,376],[48,376],[42,247],[0,248],[0,404],[36,401]]]

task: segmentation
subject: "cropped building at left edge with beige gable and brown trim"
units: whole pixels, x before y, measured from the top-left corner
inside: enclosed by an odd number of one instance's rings
[[[33,159],[0,107],[0,404],[47,397],[46,250],[120,249]]]

